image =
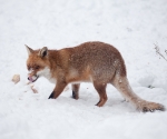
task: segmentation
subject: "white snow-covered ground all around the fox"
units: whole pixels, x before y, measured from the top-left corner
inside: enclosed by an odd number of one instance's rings
[[[154,49],[167,49],[166,10],[166,0],[0,0],[0,139],[167,139],[167,111],[138,112],[111,86],[102,108],[95,106],[91,83],[81,85],[77,101],[70,86],[48,100],[53,85],[42,78],[33,93],[24,49],[111,43],[135,92],[167,108],[167,62]],[[11,82],[16,73],[18,85]]]

